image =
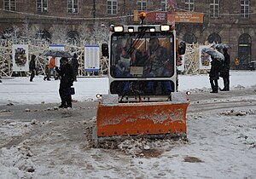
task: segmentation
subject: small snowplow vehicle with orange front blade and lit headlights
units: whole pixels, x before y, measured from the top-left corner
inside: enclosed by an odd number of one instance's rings
[[[96,138],[186,136],[186,93],[177,92],[174,26],[111,26],[109,91],[97,94]]]

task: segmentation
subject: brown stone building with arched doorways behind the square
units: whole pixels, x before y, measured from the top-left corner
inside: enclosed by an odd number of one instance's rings
[[[0,0],[0,37],[55,41],[96,38],[108,26],[134,24],[134,10],[165,12],[170,0]],[[173,1],[173,0],[172,0]],[[256,0],[179,0],[176,12],[202,15],[177,21],[177,38],[187,43],[228,43],[231,66],[240,69],[256,60]],[[166,23],[150,20],[147,23]],[[62,37],[60,37],[62,36]],[[98,37],[101,38],[101,37]]]

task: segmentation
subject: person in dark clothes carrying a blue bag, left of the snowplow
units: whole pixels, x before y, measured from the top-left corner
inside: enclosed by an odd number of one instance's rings
[[[61,58],[61,69],[57,66],[55,67],[56,72],[59,73],[61,78],[59,94],[61,97],[60,108],[72,107],[72,97],[70,94],[70,88],[73,86],[73,69],[70,64],[68,64],[67,58]]]

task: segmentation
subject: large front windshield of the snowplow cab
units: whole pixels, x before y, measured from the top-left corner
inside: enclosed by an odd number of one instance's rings
[[[171,78],[172,32],[113,33],[110,75],[113,78]]]

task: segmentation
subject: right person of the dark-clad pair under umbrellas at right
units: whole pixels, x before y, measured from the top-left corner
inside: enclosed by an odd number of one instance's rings
[[[224,89],[222,91],[230,90],[230,55],[228,54],[228,49],[223,49],[224,54],[224,64],[223,69],[220,72],[220,77],[223,78]]]

